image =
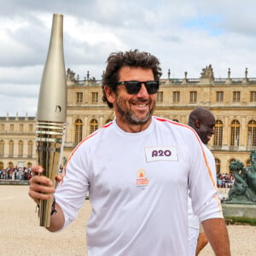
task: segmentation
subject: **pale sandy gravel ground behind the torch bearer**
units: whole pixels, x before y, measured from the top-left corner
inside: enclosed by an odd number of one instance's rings
[[[27,189],[26,185],[0,185],[0,255],[87,255],[85,222],[90,215],[90,202],[85,201],[79,217],[67,230],[49,233],[39,226],[35,204]],[[233,256],[256,255],[256,227],[229,225],[228,230]],[[201,256],[212,255],[210,246],[201,253]]]

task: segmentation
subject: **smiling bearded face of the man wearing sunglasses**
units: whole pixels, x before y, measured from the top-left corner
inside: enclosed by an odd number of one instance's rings
[[[136,80],[146,82],[154,80],[150,68],[122,67],[119,70],[119,82]],[[155,108],[155,94],[148,94],[145,84],[137,94],[128,94],[125,84],[117,86],[116,93],[111,93],[117,123],[124,131],[143,131],[151,122]],[[108,98],[109,101],[109,98]]]

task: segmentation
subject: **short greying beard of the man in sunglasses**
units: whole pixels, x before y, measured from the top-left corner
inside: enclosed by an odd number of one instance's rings
[[[126,109],[126,105],[124,104],[123,98],[122,97],[118,97],[117,101],[116,101],[116,108],[117,111],[119,112],[121,118],[126,122],[129,123],[131,125],[144,125],[148,122],[149,119],[151,119],[153,113],[154,113],[154,108],[155,108],[155,102],[148,102],[148,100],[141,100],[138,101],[136,103],[149,103],[149,109],[148,109],[148,113],[143,117],[140,118],[136,115],[136,113],[134,113],[131,108],[130,109]]]

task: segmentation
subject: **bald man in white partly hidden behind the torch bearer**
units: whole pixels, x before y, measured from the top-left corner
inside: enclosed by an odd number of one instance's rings
[[[213,182],[216,184],[215,160],[211,151],[206,146],[214,134],[215,118],[207,108],[195,108],[189,114],[189,126],[201,138],[204,151],[207,155],[207,162],[211,169],[212,179],[214,179]],[[207,243],[207,236],[199,223],[198,217],[193,212],[189,198],[189,256],[198,255]]]

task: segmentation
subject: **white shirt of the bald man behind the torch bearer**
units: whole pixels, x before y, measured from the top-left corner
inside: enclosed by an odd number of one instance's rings
[[[214,184],[216,186],[217,178],[216,178],[216,167],[215,167],[214,157],[212,155],[212,152],[209,150],[209,148],[207,148],[207,145],[205,145],[204,143],[201,143],[201,144],[207,156],[207,162],[212,172],[212,179],[214,180]],[[200,227],[199,219],[193,212],[192,202],[190,197],[188,200],[188,212],[189,212],[189,227],[199,230],[199,227]]]

